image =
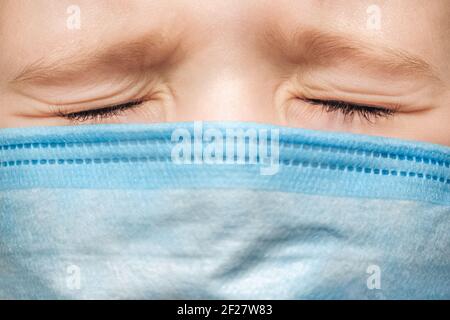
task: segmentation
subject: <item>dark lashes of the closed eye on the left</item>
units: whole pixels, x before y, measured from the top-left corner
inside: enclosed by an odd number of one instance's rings
[[[92,120],[103,120],[109,119],[118,115],[121,115],[123,112],[129,109],[133,109],[137,106],[140,106],[144,101],[143,100],[135,100],[127,103],[117,104],[113,106],[108,106],[100,109],[93,110],[85,110],[80,112],[71,112],[71,113],[63,113],[58,112],[58,115],[62,118],[75,121],[75,122],[85,122]]]

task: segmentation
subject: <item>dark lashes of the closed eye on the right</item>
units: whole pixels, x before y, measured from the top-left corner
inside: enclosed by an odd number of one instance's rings
[[[396,108],[389,109],[381,106],[369,106],[364,104],[350,103],[340,100],[320,100],[320,99],[302,99],[306,103],[314,106],[320,106],[325,112],[339,112],[344,118],[353,119],[359,116],[366,121],[373,123],[378,118],[388,118],[396,113]]]

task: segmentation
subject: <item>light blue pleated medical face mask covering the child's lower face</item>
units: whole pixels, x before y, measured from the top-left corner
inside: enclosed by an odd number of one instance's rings
[[[248,123],[0,130],[0,298],[450,298],[450,149]]]

